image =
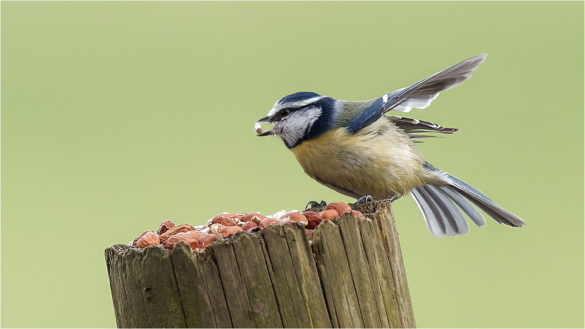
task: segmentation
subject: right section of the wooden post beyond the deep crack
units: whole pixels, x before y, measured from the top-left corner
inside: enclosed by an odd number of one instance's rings
[[[309,237],[333,327],[415,327],[402,256],[395,249],[398,234],[388,210],[385,205],[360,218],[342,214]]]

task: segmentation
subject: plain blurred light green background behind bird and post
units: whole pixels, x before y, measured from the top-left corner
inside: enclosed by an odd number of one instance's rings
[[[2,2],[2,327],[115,327],[104,248],[163,220],[352,199],[254,122],[488,53],[409,117],[528,223],[434,238],[394,203],[419,327],[583,327],[583,2]]]

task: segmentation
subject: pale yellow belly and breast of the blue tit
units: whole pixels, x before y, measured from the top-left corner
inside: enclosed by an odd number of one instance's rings
[[[382,134],[328,131],[292,152],[311,178],[353,198],[402,196],[424,185],[427,176],[408,136],[391,129]]]

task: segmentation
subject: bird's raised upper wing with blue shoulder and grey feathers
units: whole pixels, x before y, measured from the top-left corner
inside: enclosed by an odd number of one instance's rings
[[[389,92],[377,98],[363,112],[359,113],[347,126],[350,133],[357,133],[364,127],[376,122],[389,110],[408,112],[411,108],[424,109],[429,106],[439,92],[453,88],[472,77],[473,71],[486,60],[481,54],[446,68],[414,85]]]

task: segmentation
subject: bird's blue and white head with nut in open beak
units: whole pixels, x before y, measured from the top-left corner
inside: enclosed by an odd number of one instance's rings
[[[334,105],[335,99],[316,92],[291,93],[279,99],[268,116],[256,122],[254,131],[258,136],[279,136],[288,148],[292,148],[331,126]],[[260,123],[273,123],[274,127],[263,131]]]

